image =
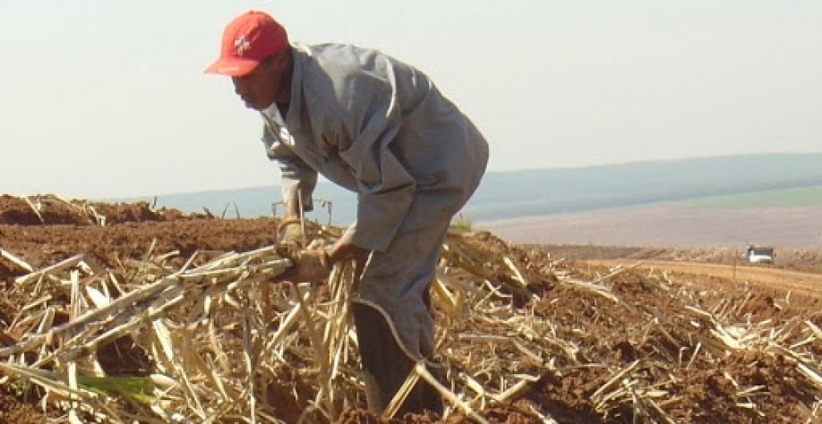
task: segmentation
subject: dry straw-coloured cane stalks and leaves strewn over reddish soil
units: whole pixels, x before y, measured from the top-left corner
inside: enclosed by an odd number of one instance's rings
[[[271,246],[209,261],[194,254],[178,269],[169,266],[176,252],[153,250],[124,264],[119,279],[82,254],[36,269],[0,250],[30,271],[15,280],[30,301],[3,332],[19,336],[0,348],[2,374],[41,387],[44,402],[72,422],[283,422],[287,404],[304,409],[299,420],[321,422],[364,407],[349,317],[355,263],[338,264],[328,284],[312,286],[282,284],[278,276],[292,263]],[[670,383],[745,351],[790,359],[814,387],[805,409],[808,422],[818,420],[822,374],[810,346],[822,331],[811,320],[756,322],[740,315],[748,298],[706,306],[664,275],[648,278],[646,290],[668,308],[629,304],[612,278],[630,267],[586,280],[558,262],[535,268],[500,251],[485,234],[450,234],[432,291],[443,312],[437,342],[447,379],[417,365],[384,418],[424,380],[442,394],[446,415],[486,422],[485,410],[504,406],[553,422],[550,413],[514,403],[546,376],[591,369],[599,383],[587,397],[604,420],[630,411],[647,422],[677,422],[672,408],[683,394]],[[548,288],[587,304],[593,318],[568,323],[536,314],[537,302],[560,301],[544,294]],[[614,310],[642,318],[643,326],[623,329],[648,352],[642,360],[613,360],[598,344]],[[55,325],[56,315],[69,320]],[[112,343],[143,357],[147,369],[107,376],[100,355]],[[739,386],[736,398],[754,412],[767,402],[761,386]]]

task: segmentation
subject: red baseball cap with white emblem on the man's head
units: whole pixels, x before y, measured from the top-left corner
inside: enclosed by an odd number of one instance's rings
[[[278,21],[268,13],[246,12],[228,22],[219,57],[205,72],[242,77],[263,59],[287,47],[286,29]]]

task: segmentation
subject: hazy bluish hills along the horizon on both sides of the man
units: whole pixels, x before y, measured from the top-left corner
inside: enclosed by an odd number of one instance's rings
[[[815,186],[822,186],[822,154],[700,157],[498,172],[486,174],[465,213],[475,221],[498,220]],[[321,182],[314,197],[330,200],[335,223],[353,220],[355,194]],[[151,201],[152,197],[134,199]],[[216,215],[225,210],[231,217],[238,210],[240,216],[253,217],[270,216],[271,202],[276,200],[279,188],[267,186],[164,194],[158,195],[157,202],[184,211],[206,207]],[[313,217],[327,220],[324,211]]]

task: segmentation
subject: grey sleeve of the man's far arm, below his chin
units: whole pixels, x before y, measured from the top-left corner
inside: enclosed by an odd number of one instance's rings
[[[291,148],[281,143],[268,125],[262,126],[262,144],[266,155],[279,165],[283,201],[296,199],[299,193],[302,196],[303,210],[313,210],[312,194],[317,185],[317,172],[305,165],[303,159],[297,157]]]

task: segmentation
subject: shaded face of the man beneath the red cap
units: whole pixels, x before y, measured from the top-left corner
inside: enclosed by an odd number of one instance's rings
[[[245,106],[255,110],[263,110],[271,106],[290,90],[287,78],[287,55],[289,52],[278,53],[262,61],[252,72],[242,77],[232,77],[234,90],[237,96],[243,99]]]

